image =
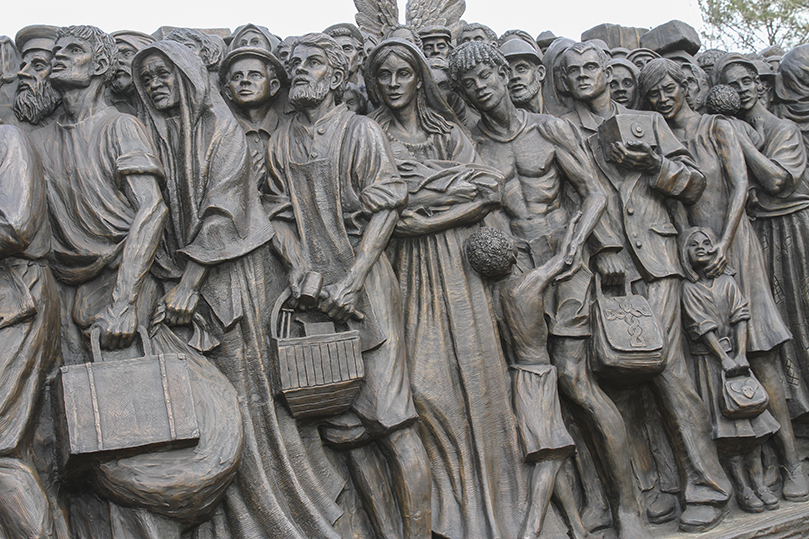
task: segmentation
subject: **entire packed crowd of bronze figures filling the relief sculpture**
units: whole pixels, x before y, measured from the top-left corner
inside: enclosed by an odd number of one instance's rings
[[[809,45],[356,4],[0,40],[0,536],[641,539],[809,500]],[[356,332],[347,411],[293,415],[279,310]],[[198,444],[72,473],[56,373],[139,328]]]

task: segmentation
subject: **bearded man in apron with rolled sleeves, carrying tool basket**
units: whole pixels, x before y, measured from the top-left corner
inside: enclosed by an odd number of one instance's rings
[[[350,411],[321,425],[321,437],[345,451],[379,537],[426,539],[430,463],[414,428],[399,285],[384,253],[407,186],[379,125],[337,105],[349,72],[337,41],[325,34],[299,38],[289,70],[296,114],[267,149],[276,239],[293,295],[300,296],[307,271],[319,272],[325,286],[318,307],[359,331],[365,364]],[[389,473],[380,473],[386,465]],[[395,495],[401,522],[389,514],[386,491]]]

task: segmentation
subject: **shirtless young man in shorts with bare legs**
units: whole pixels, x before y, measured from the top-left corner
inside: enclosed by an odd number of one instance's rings
[[[480,157],[505,175],[503,211],[496,216],[501,220],[496,226],[516,239],[518,271],[527,272],[556,254],[570,221],[562,204],[564,184],[569,182],[581,199],[582,217],[565,255],[570,269],[546,291],[550,357],[562,394],[603,446],[595,453],[602,455],[610,476],[606,483],[615,489],[620,538],[646,537],[632,470],[623,458],[626,427],[587,368],[592,274],[582,262],[582,250],[585,241],[588,254],[618,245],[607,228],[594,230],[605,207],[605,192],[570,123],[517,109],[512,103],[509,64],[500,51],[483,42],[461,45],[450,56],[450,73],[481,113],[472,129]]]

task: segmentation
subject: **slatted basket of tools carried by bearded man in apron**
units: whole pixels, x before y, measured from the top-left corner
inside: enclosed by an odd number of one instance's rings
[[[276,393],[298,419],[348,411],[365,374],[359,332],[335,333],[333,324],[320,323],[308,325],[305,337],[290,337],[293,311],[281,308],[289,296],[278,298],[270,322]]]

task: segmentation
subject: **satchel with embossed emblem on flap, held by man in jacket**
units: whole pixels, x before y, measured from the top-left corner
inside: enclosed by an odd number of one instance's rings
[[[591,368],[601,378],[635,385],[666,367],[660,322],[643,296],[632,294],[624,276],[624,295],[605,296],[596,275]]]

